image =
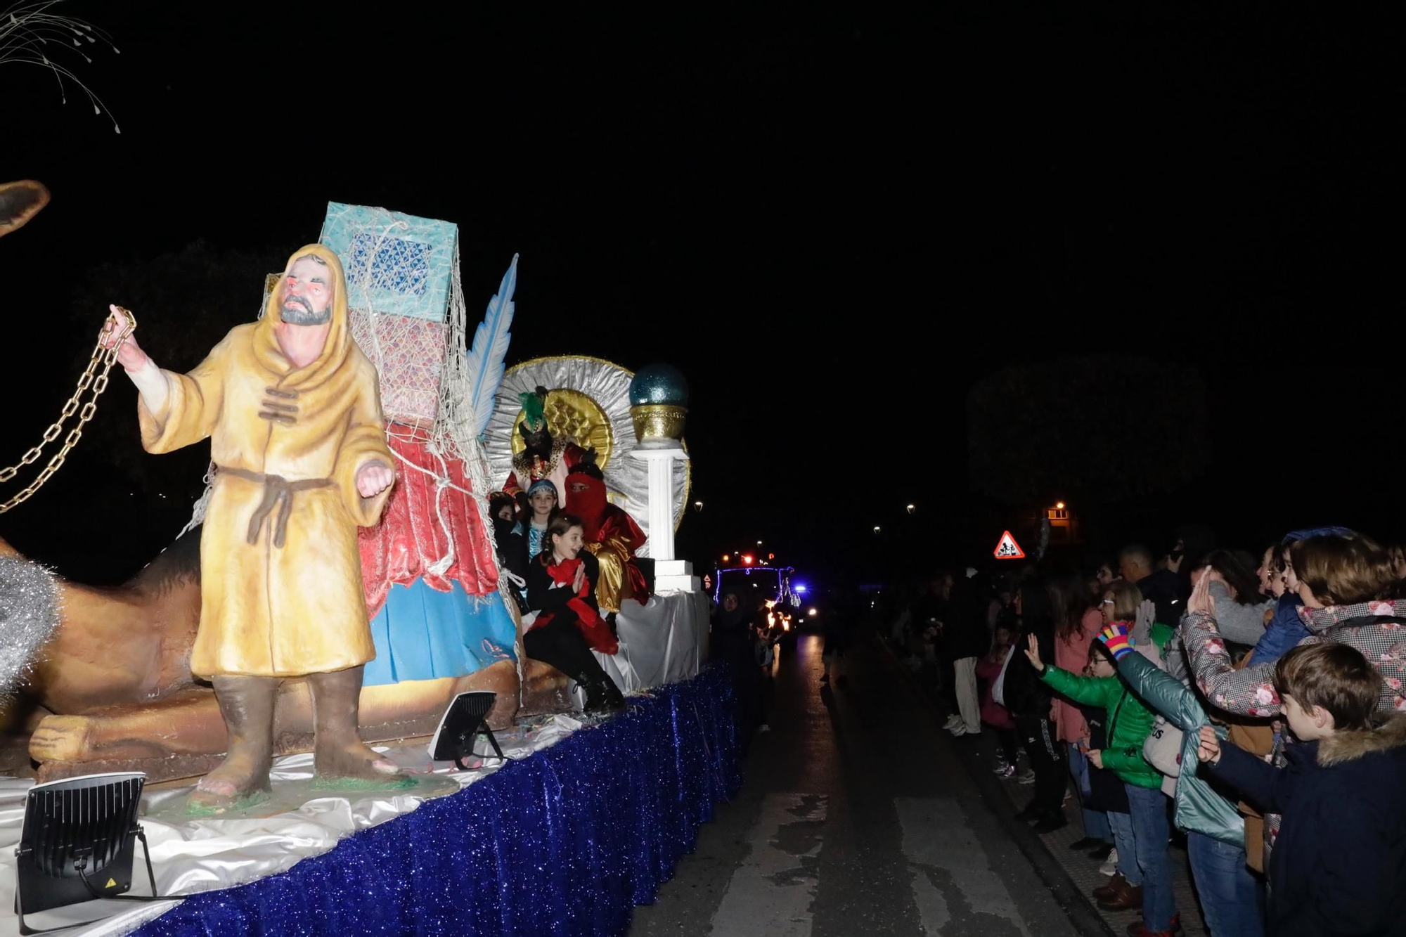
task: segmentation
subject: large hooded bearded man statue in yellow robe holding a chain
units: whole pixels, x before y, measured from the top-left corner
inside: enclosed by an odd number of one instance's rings
[[[263,318],[231,329],[188,374],[159,369],[134,338],[118,360],[139,391],[142,446],[163,453],[209,436],[217,464],[190,668],[215,687],[229,748],[191,805],[269,791],[274,699],[288,677],[312,691],[319,775],[396,774],[357,736],[361,670],[375,657],[357,526],[380,521],[395,473],[337,256],[295,252]]]

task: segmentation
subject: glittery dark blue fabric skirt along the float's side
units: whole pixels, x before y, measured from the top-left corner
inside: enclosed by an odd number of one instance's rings
[[[741,784],[720,667],[281,875],[205,892],[142,937],[613,937]]]

